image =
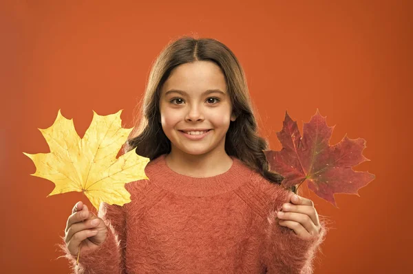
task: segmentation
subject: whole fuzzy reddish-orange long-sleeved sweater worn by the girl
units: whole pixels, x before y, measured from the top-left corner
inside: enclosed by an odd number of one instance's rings
[[[288,190],[235,157],[223,174],[194,178],[173,172],[166,155],[145,168],[149,180],[125,185],[131,202],[102,203],[105,242],[81,252],[74,273],[313,273],[326,227],[310,240],[278,225]]]

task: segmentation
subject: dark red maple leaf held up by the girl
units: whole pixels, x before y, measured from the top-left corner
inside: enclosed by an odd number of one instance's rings
[[[352,170],[352,166],[370,161],[363,156],[366,140],[346,136],[335,146],[329,141],[335,126],[327,126],[326,117],[318,109],[310,122],[304,123],[303,137],[297,122],[286,112],[282,130],[277,137],[281,151],[267,150],[270,170],[284,176],[282,185],[291,187],[308,182],[308,188],[317,196],[337,207],[335,193],[358,194],[374,178],[369,172]]]

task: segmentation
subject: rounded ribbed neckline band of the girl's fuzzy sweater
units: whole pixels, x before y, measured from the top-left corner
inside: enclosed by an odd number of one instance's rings
[[[145,174],[155,185],[178,195],[202,197],[230,192],[246,182],[252,172],[240,159],[230,156],[233,163],[226,172],[209,177],[191,177],[171,170],[166,156],[163,154],[150,161]]]

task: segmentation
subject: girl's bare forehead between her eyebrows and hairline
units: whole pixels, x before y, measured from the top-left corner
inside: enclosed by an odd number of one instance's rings
[[[207,89],[226,91],[224,73],[218,65],[211,61],[195,61],[179,65],[163,84],[162,94],[169,89],[182,91],[204,92]]]

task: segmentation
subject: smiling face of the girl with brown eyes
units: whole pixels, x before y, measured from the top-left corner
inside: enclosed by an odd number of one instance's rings
[[[206,92],[211,89],[222,93]],[[171,141],[172,153],[202,155],[225,151],[226,131],[235,117],[231,115],[231,99],[218,65],[195,61],[176,67],[160,91],[159,105],[162,129]],[[191,129],[208,132],[189,135],[182,131]]]

